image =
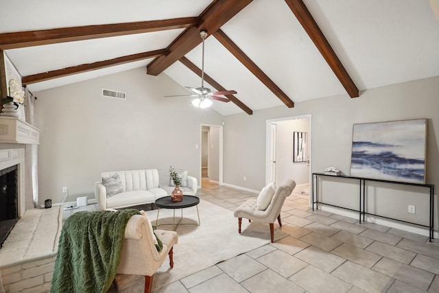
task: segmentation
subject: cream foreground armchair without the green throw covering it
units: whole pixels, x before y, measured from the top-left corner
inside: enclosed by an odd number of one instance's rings
[[[133,215],[125,228],[121,261],[117,274],[141,274],[145,276],[145,292],[151,292],[154,273],[169,255],[169,266],[174,266],[173,246],[178,242],[175,231],[154,231],[163,243],[163,249],[157,251],[151,222],[144,211],[142,215]]]

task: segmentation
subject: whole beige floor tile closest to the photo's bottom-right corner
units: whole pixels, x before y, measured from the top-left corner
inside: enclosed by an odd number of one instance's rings
[[[420,270],[386,257],[378,261],[377,264],[372,267],[372,270],[376,270],[377,272],[381,272],[381,274],[403,281],[422,290],[427,290],[434,278],[434,274],[431,274],[431,272],[425,272],[425,270]]]

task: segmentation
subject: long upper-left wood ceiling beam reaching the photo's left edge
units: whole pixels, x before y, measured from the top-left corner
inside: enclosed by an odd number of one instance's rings
[[[86,25],[80,27],[62,27],[52,30],[35,30],[27,32],[10,32],[0,34],[0,49],[16,49],[39,45],[125,36],[161,30],[174,30],[193,27],[198,24],[198,17],[164,19],[160,21],[141,21],[136,23],[114,23],[110,25]]]

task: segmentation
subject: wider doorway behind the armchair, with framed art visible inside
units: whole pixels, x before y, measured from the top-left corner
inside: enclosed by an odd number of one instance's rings
[[[307,154],[303,162],[295,162],[294,132],[307,133]],[[270,119],[266,126],[265,184],[276,185],[292,178],[297,185],[311,182],[311,115]]]

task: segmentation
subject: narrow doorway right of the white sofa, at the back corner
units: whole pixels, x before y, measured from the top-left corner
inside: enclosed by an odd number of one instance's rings
[[[201,125],[200,145],[200,186],[222,184],[222,126]]]

